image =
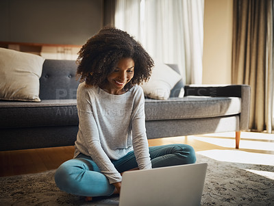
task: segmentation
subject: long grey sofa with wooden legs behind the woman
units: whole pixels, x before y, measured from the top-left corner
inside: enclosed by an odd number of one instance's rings
[[[176,65],[169,65],[177,70]],[[71,60],[45,60],[40,77],[40,103],[0,101],[0,151],[73,145],[78,116]],[[250,87],[184,86],[171,91],[169,100],[145,100],[147,138],[188,136],[247,130]],[[239,136],[236,139],[238,147]]]

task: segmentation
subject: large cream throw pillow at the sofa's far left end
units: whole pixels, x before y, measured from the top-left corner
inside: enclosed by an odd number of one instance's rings
[[[39,78],[44,61],[39,55],[0,48],[0,99],[41,101]]]

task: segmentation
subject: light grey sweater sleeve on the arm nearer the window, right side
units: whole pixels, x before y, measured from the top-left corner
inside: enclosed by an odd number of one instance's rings
[[[145,96],[141,87],[139,87],[134,100],[134,110],[132,112],[132,144],[138,168],[140,170],[150,169],[151,159],[145,129]]]

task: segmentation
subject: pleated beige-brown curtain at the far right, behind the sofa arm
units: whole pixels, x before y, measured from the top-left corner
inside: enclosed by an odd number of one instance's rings
[[[232,83],[251,86],[250,129],[273,131],[273,0],[234,0],[232,52]]]

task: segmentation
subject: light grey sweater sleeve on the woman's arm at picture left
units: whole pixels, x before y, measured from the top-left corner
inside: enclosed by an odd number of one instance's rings
[[[97,164],[103,175],[109,179],[110,184],[122,181],[120,173],[102,149],[99,131],[92,113],[90,97],[88,93],[81,90],[81,88],[77,93],[77,110],[79,116],[79,132],[82,137],[82,140],[79,142],[82,142],[88,149],[90,157]]]

